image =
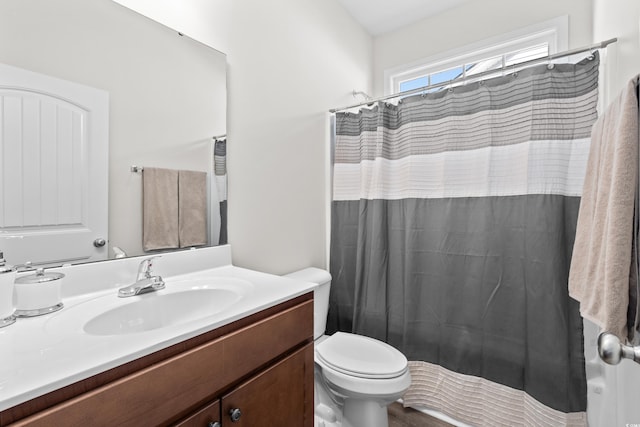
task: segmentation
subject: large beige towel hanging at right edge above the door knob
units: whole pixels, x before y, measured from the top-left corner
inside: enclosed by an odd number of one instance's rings
[[[569,295],[603,330],[627,337],[633,210],[638,180],[635,79],[596,121],[591,133]]]

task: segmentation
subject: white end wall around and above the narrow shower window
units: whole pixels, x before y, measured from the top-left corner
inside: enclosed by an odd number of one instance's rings
[[[374,93],[384,94],[384,71],[558,16],[569,16],[569,47],[591,44],[588,0],[472,0],[374,39]]]

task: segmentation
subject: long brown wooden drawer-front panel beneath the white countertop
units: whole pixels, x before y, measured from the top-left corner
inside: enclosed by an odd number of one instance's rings
[[[15,425],[165,425],[312,337],[309,300]]]

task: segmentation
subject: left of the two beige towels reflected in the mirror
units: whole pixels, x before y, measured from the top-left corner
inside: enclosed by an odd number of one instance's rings
[[[142,248],[178,248],[178,171],[142,172]]]

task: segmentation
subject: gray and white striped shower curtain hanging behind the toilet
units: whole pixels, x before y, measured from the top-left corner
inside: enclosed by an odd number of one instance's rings
[[[410,360],[405,405],[584,425],[567,278],[597,55],[336,115],[328,328]]]

